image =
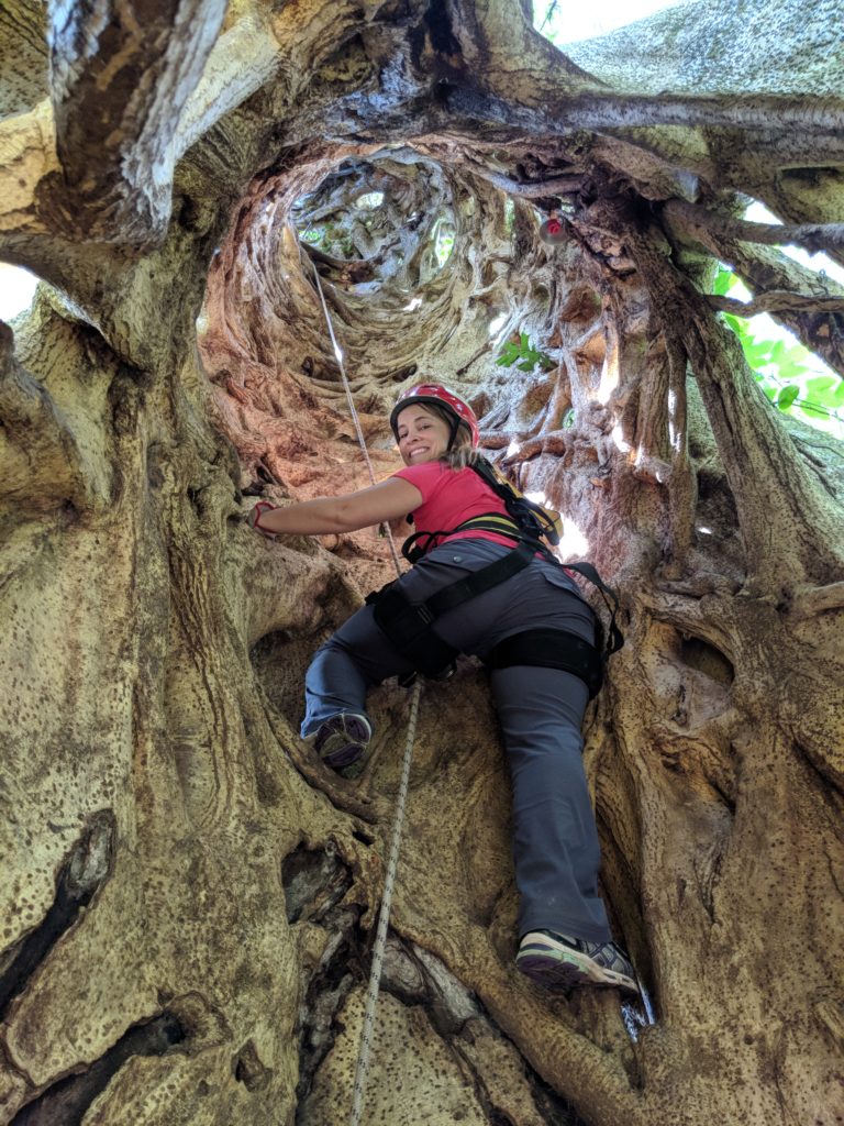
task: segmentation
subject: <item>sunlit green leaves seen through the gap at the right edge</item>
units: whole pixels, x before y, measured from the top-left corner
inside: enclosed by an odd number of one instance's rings
[[[740,291],[742,282],[727,267],[715,279],[715,293],[724,296]],[[739,293],[733,294],[739,296]],[[720,314],[738,337],[745,358],[765,396],[785,414],[805,422],[826,425],[827,430],[844,429],[844,379],[800,343],[785,339],[770,340],[754,332],[754,321],[731,313]]]

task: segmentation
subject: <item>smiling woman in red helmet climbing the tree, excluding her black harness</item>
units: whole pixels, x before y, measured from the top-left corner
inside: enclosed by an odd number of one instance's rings
[[[478,429],[466,403],[438,384],[422,384],[399,397],[390,425],[404,468],[387,481],[280,509],[261,502],[249,522],[269,535],[324,535],[411,513],[424,555],[393,586],[417,606],[510,556],[513,537],[494,530],[495,520],[478,519],[495,513],[506,526],[508,510],[472,468]],[[472,518],[475,527],[458,528]],[[564,631],[591,646],[594,619],[565,571],[528,551],[523,570],[437,617],[433,632],[447,650],[485,656],[536,627]],[[357,772],[372,733],[367,690],[413,670],[377,624],[376,608],[365,606],[314,656],[303,739],[330,767]],[[513,779],[517,966],[545,985],[637,992],[635,971],[612,941],[598,894],[600,851],[581,759],[586,683],[560,668],[524,663],[494,668],[492,688]]]

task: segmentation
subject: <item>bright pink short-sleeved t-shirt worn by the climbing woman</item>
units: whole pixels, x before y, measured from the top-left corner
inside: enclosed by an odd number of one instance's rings
[[[422,503],[413,510],[414,531],[447,531],[485,512],[508,515],[504,501],[474,470],[452,470],[442,462],[423,462],[421,465],[406,465],[393,476],[408,481],[422,493]],[[431,540],[430,546],[424,537],[419,543],[425,552],[430,552],[447,539],[491,539],[494,544],[514,546],[514,540],[506,536],[482,529],[441,536]]]

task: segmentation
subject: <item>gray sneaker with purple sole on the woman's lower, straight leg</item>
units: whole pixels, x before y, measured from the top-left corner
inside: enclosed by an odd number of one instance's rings
[[[614,942],[587,942],[551,930],[531,930],[519,944],[515,965],[531,981],[549,989],[603,985],[639,992],[632,963]]]

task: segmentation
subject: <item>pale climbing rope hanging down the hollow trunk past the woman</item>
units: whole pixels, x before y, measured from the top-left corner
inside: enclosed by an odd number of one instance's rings
[[[302,248],[299,247],[299,254],[302,254]],[[352,417],[354,423],[354,429],[358,435],[358,441],[360,443],[360,448],[363,452],[363,459],[367,463],[367,468],[369,470],[369,480],[372,484],[375,481],[375,473],[372,472],[372,463],[369,461],[369,452],[367,450],[366,439],[363,437],[363,430],[360,426],[360,419],[358,418],[358,412],[354,406],[354,400],[352,399],[351,387],[349,385],[349,379],[345,375],[345,365],[343,364],[343,352],[336,342],[336,337],[334,336],[334,325],[331,323],[331,316],[329,314],[329,306],[325,303],[325,295],[322,291],[322,280],[320,278],[320,272],[316,269],[316,265],[311,261],[314,270],[314,277],[316,278],[316,292],[320,294],[320,301],[322,302],[322,311],[325,315],[325,323],[329,328],[329,336],[331,337],[331,343],[334,349],[334,356],[336,357],[338,365],[340,366],[340,375],[343,379],[343,390],[345,391],[345,399],[349,403],[349,413]],[[402,577],[402,566],[398,562],[398,552],[396,551],[395,540],[393,539],[393,534],[387,527],[383,525],[386,531],[387,539],[389,540],[390,552],[393,553],[393,562],[396,568],[396,574]],[[375,944],[372,946],[372,965],[369,971],[369,984],[367,985],[367,1000],[363,1008],[363,1024],[360,1030],[360,1047],[358,1048],[358,1063],[354,1070],[354,1088],[352,1092],[352,1108],[351,1115],[349,1117],[349,1126],[360,1126],[360,1116],[363,1109],[363,1094],[366,1092],[367,1075],[369,1074],[369,1056],[372,1043],[372,1029],[375,1028],[375,1010],[378,1006],[378,992],[380,990],[381,981],[381,968],[384,966],[384,951],[387,947],[387,929],[389,926],[389,911],[393,905],[393,885],[396,879],[396,869],[398,867],[398,850],[402,843],[402,826],[404,824],[404,807],[407,801],[407,787],[410,785],[411,778],[411,759],[413,758],[413,743],[416,739],[416,722],[419,720],[419,700],[422,695],[422,679],[417,677],[413,686],[413,695],[411,696],[411,714],[407,720],[407,742],[404,748],[404,759],[402,760],[402,779],[398,784],[398,797],[396,798],[396,812],[393,817],[393,830],[390,833],[389,841],[389,856],[387,859],[387,870],[384,876],[384,893],[381,895],[380,911],[378,912],[378,928],[375,936]]]

